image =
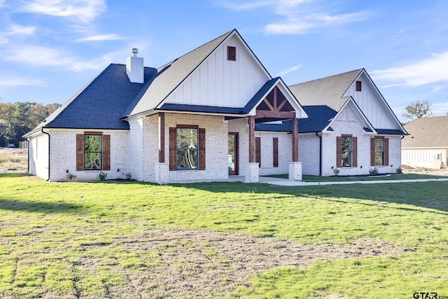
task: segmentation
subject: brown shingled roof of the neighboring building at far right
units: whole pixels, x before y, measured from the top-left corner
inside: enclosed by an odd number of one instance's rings
[[[448,147],[448,116],[433,116],[430,118],[416,118],[405,125],[409,133],[401,141],[403,148],[414,147]]]

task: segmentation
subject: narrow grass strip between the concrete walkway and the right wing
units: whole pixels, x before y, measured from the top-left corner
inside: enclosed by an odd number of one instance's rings
[[[269,177],[288,179],[288,174],[273,174]],[[326,181],[395,181],[404,179],[448,179],[448,176],[435,176],[431,174],[391,174],[390,176],[302,176],[306,182]]]

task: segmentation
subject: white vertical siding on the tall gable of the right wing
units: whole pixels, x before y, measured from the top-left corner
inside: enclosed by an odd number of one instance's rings
[[[381,99],[381,95],[374,88],[371,81],[361,74],[356,81],[361,81],[361,91],[356,91],[356,82],[353,82],[349,89],[346,90],[344,97],[353,97],[358,104],[365,117],[370,121],[374,128],[377,129],[400,129],[394,121],[386,103]]]

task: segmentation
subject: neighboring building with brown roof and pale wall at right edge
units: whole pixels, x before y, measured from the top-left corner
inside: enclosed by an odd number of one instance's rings
[[[448,116],[416,118],[405,125],[409,133],[402,139],[402,164],[412,167],[447,167]]]

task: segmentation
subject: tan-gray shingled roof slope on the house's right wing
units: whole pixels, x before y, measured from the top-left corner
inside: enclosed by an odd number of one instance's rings
[[[342,97],[363,69],[288,86],[302,106],[328,106],[339,111],[347,97]]]

